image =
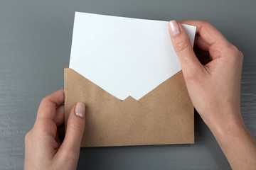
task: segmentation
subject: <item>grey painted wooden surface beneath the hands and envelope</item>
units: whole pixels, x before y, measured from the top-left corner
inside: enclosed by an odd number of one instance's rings
[[[23,169],[38,104],[63,88],[75,11],[213,23],[245,55],[242,117],[256,137],[255,9],[256,1],[234,0],[1,0],[0,169]],[[195,145],[82,148],[78,169],[230,169],[198,115],[195,124]]]

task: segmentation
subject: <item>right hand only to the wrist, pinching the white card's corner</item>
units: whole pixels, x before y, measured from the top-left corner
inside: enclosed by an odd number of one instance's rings
[[[240,79],[242,52],[232,45],[206,21],[183,21],[196,26],[195,46],[211,57],[208,64],[201,64],[191,47],[191,42],[181,23],[171,21],[180,29],[171,35],[188,93],[196,111],[210,127],[225,123],[242,125],[240,115]],[[171,28],[171,27],[170,27]],[[171,30],[170,30],[171,32]]]

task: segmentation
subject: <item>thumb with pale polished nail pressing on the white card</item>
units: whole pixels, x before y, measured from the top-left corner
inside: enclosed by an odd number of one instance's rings
[[[168,26],[171,42],[181,62],[184,77],[188,74],[198,74],[201,72],[203,66],[193,52],[191,41],[181,23],[170,21]]]

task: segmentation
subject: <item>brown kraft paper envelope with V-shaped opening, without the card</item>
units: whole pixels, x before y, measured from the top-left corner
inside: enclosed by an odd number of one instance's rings
[[[139,101],[132,97],[121,101],[73,69],[65,68],[65,125],[78,102],[86,106],[81,147],[194,142],[193,105],[182,72]]]

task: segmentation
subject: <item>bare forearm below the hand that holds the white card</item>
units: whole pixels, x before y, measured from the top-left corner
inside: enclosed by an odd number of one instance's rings
[[[218,122],[208,126],[227,157],[230,166],[233,169],[255,169],[256,140],[245,127],[242,118],[234,120],[226,116]]]

